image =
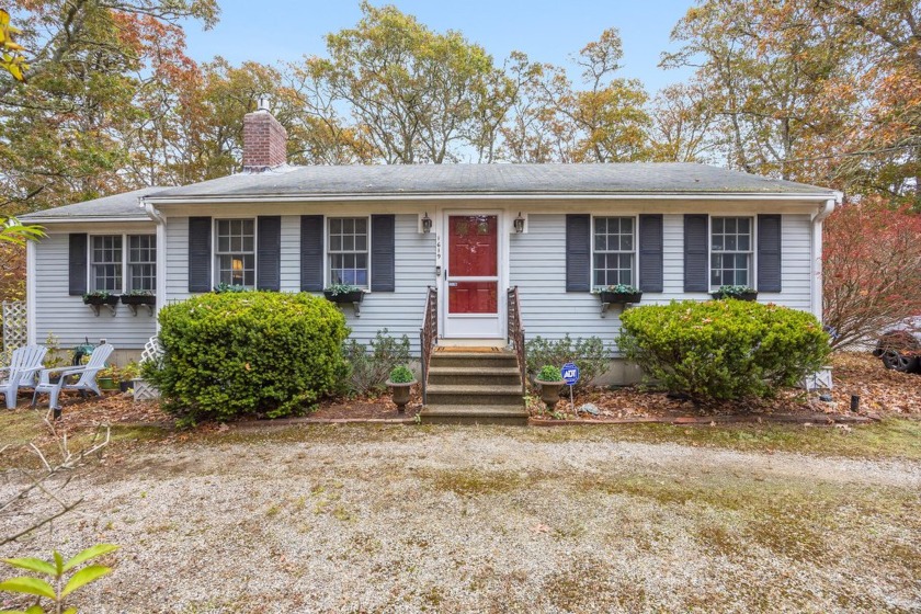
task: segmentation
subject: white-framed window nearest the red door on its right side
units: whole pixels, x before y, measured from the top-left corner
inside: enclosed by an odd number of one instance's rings
[[[636,284],[636,218],[592,218],[592,285]]]

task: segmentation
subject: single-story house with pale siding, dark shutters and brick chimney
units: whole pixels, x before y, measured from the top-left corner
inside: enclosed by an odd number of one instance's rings
[[[92,291],[150,291],[159,308],[220,283],[367,294],[343,311],[367,342],[406,333],[419,352],[427,288],[440,344],[504,345],[505,292],[527,337],[600,336],[622,307],[595,286],[626,283],[643,304],[706,299],[749,285],[759,302],[821,318],[821,226],[841,194],[691,163],[292,167],[266,111],[246,118],[245,170],[26,216],[29,340],[105,339],[118,360],[156,333],[156,308],[99,312]],[[634,377],[616,365],[615,382]]]

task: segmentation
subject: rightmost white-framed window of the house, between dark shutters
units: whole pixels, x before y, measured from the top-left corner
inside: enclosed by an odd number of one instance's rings
[[[752,286],[754,221],[750,217],[710,218],[710,286]]]

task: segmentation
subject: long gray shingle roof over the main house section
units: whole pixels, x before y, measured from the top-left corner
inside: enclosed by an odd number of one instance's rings
[[[154,194],[211,197],[476,194],[810,194],[832,190],[692,163],[283,167]]]

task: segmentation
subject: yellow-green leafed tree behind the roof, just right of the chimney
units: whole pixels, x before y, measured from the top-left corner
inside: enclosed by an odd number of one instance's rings
[[[376,160],[458,160],[474,132],[478,94],[497,70],[491,56],[459,33],[432,32],[395,7],[363,2],[362,13],[355,27],[327,35],[329,57],[308,58],[304,72],[348,105],[355,134],[371,144]]]

